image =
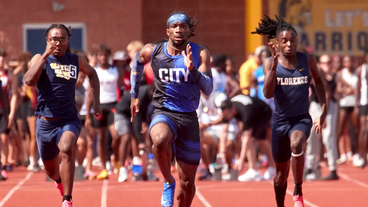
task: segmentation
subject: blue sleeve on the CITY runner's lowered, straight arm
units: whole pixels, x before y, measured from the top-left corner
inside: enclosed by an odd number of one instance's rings
[[[130,73],[131,90],[130,95],[132,98],[138,98],[139,85],[141,85],[143,77],[144,63],[141,60],[141,50],[135,55],[132,71]]]

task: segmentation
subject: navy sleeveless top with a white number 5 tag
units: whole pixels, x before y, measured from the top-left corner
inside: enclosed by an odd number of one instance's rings
[[[77,55],[66,53],[62,57],[47,57],[36,84],[38,104],[35,114],[60,119],[77,118],[75,83],[78,74]]]

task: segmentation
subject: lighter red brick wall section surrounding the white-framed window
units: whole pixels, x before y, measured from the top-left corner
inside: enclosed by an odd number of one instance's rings
[[[22,25],[27,23],[83,22],[88,46],[106,43],[113,51],[126,49],[130,41],[142,38],[141,0],[59,2],[65,8],[55,12],[50,0],[0,1],[0,32],[6,37],[7,45],[12,46],[8,50],[13,56],[22,52]]]

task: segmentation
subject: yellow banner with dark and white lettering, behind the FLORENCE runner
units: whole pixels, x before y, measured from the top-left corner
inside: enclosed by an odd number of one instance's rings
[[[316,54],[361,56],[368,48],[368,0],[268,0],[269,16],[296,28]]]

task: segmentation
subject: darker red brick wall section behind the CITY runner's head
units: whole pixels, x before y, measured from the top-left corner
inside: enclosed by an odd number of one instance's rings
[[[166,38],[166,19],[173,12],[184,11],[197,14],[201,22],[190,41],[205,45],[210,54],[225,53],[236,59],[236,66],[244,62],[244,0],[229,3],[223,0],[143,0],[142,2],[144,42],[155,43]]]

